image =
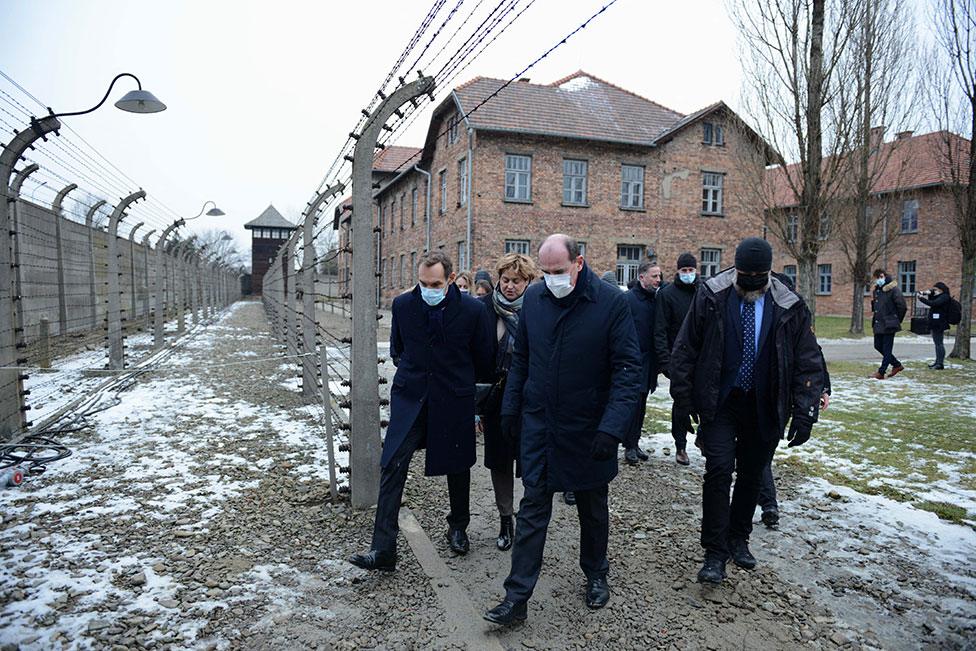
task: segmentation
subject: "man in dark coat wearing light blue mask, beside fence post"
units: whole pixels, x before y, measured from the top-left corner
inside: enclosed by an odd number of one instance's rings
[[[380,494],[369,552],[349,559],[367,570],[396,568],[397,517],[410,458],[426,447],[427,476],[447,475],[451,513],[447,538],[467,553],[471,466],[475,462],[474,385],[494,370],[495,338],[488,311],[454,285],[450,259],[425,254],[420,282],[393,301],[390,357],[397,367],[390,424],[383,441]]]

